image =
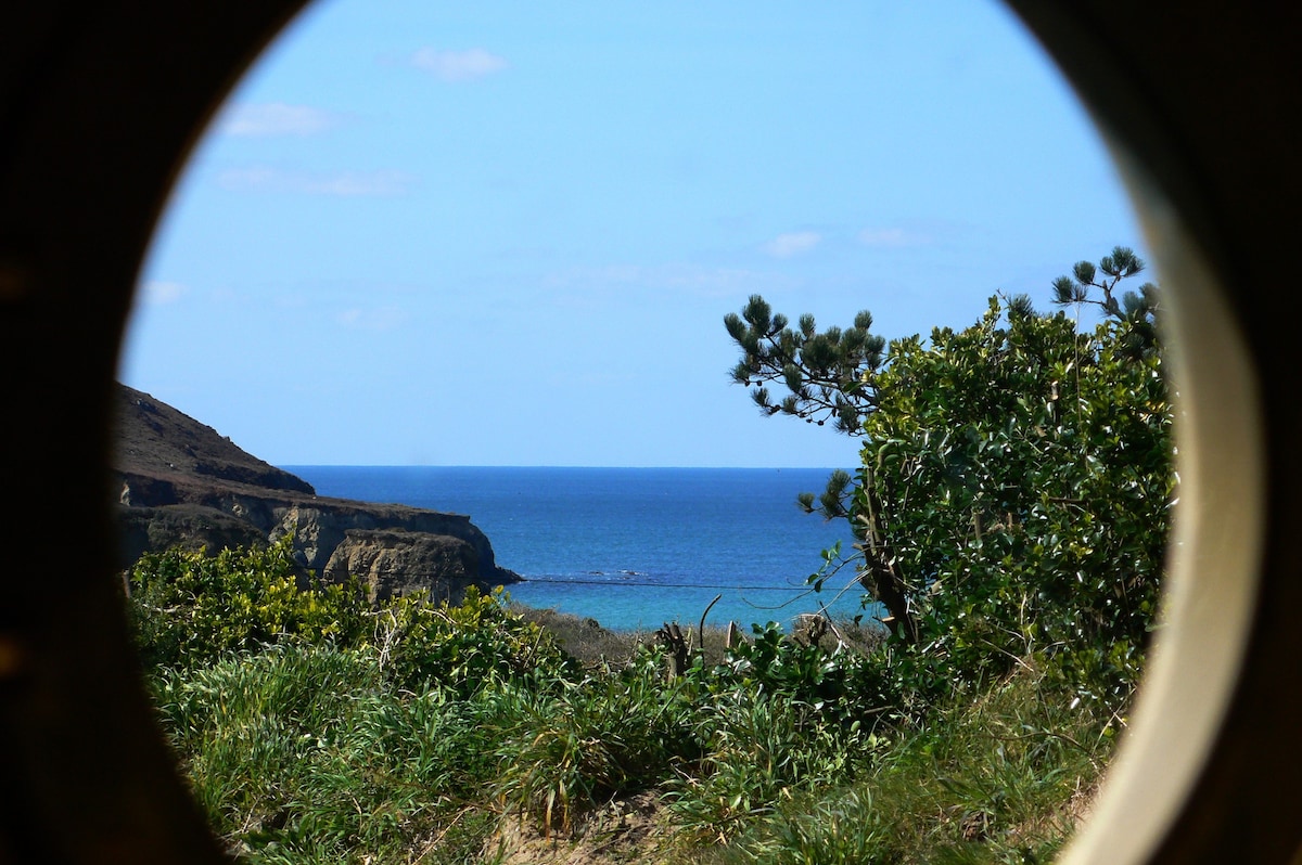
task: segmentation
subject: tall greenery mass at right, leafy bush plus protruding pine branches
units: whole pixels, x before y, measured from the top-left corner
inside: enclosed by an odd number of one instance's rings
[[[853,328],[820,333],[806,315],[793,329],[756,295],[725,319],[742,351],[734,381],[763,414],[833,419],[863,441],[854,475],[799,503],[850,522],[858,579],[892,633],[883,699],[901,718],[1027,662],[1077,697],[1129,700],[1176,492],[1159,291],[1120,290],[1143,267],[1116,247],[1053,282],[1077,319],[1098,308],[1092,330],[1025,297],[884,347],[867,312]]]

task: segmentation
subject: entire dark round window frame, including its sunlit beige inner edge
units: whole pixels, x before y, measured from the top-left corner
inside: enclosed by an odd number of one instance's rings
[[[139,684],[113,587],[111,393],[132,290],[211,113],[302,0],[0,12],[0,861],[224,861]],[[1292,861],[1302,769],[1302,411],[1288,285],[1297,12],[1009,0],[1094,113],[1164,285],[1181,502],[1128,741],[1066,852]],[[1154,4],[1156,5],[1156,4]],[[1290,447],[1292,445],[1292,447]]]

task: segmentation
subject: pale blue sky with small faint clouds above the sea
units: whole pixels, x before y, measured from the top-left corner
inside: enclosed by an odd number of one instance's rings
[[[853,466],[723,316],[975,321],[1115,245],[1088,118],[984,0],[326,0],[181,176],[120,377],[276,464]]]

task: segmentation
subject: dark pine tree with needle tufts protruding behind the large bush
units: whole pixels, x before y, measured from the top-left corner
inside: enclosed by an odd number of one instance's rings
[[[1120,282],[1143,269],[1143,260],[1133,250],[1117,246],[1111,255],[1100,259],[1098,267],[1078,261],[1072,276],[1055,280],[1052,302],[1062,307],[1075,306],[1078,310],[1086,304],[1099,307],[1104,321],[1115,323],[1107,333],[1113,334],[1109,343],[1120,356],[1154,360],[1160,349],[1156,286],[1147,282],[1138,291],[1126,291],[1120,299],[1117,294]],[[992,310],[996,306],[1008,316],[1014,330],[1018,329],[1018,321],[1027,323],[1032,317],[1039,320],[1026,295],[1001,302],[992,299]],[[992,326],[990,315],[978,326]],[[792,328],[786,316],[775,313],[760,295],[751,295],[740,315],[725,316],[724,325],[742,355],[732,371],[732,379],[736,384],[751,388],[751,399],[764,416],[783,414],[820,427],[831,420],[833,429],[850,437],[863,437],[865,424],[883,406],[885,394],[879,392],[880,382],[888,380],[900,386],[900,376],[887,375],[892,355],[904,351],[910,358],[917,358],[919,353],[927,353],[918,337],[888,346],[883,337],[871,333],[872,315],[867,311],[859,312],[854,324],[844,329],[832,326],[819,332],[812,315],[802,315],[797,326]],[[1034,328],[1022,328],[1021,332],[1036,333]],[[1075,333],[1075,328],[1068,328],[1064,333]],[[999,341],[1005,336],[1006,332],[1001,330],[991,338]],[[953,345],[954,337],[949,329],[936,330],[932,343]],[[1082,337],[1073,339],[1079,341]],[[1100,350],[1099,345],[1091,343],[1087,347],[1087,343],[1091,339],[1083,338],[1083,342],[1078,342],[1079,349],[1072,349],[1073,353],[1079,353],[1079,359],[1085,363],[1090,362],[1091,353]],[[1006,347],[1000,351],[1004,350],[1012,351]],[[991,356],[997,355],[996,351]],[[768,388],[775,384],[786,390],[779,399],[775,399]],[[1016,402],[1018,397],[1039,398],[1039,394],[984,393],[991,388],[990,380],[970,384],[970,393],[952,394],[954,406],[965,401],[987,405],[992,399]],[[885,402],[893,410],[909,402],[906,397],[901,399],[900,394],[889,395],[892,398]],[[880,424],[876,427],[880,428]],[[941,447],[940,434],[936,438],[936,447]],[[876,464],[876,458],[870,458],[870,453],[876,451],[874,445],[879,444],[866,442],[857,476],[845,471],[833,472],[823,493],[802,493],[798,503],[807,512],[822,514],[825,519],[849,520],[857,539],[857,555],[862,557],[858,566],[861,584],[887,609],[884,622],[892,632],[913,644],[918,639],[913,596],[930,578],[900,572],[896,544],[904,539],[893,539],[892,527],[909,522],[902,519],[901,509],[910,505],[907,497],[883,496],[881,490],[887,484],[876,481],[875,472],[880,466]],[[974,531],[980,533],[980,515],[974,512],[965,519],[970,519]]]

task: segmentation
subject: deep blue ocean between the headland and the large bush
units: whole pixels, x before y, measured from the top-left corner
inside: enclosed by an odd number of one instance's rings
[[[594,618],[613,630],[729,619],[789,626],[827,605],[861,613],[862,589],[806,578],[820,550],[852,539],[844,520],[796,506],[819,492],[824,468],[471,468],[285,466],[318,494],[467,514],[497,563],[525,578],[512,600]],[[835,587],[833,587],[835,584]]]

